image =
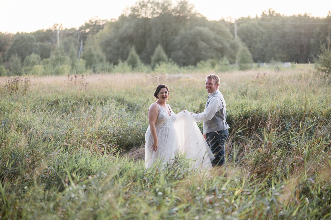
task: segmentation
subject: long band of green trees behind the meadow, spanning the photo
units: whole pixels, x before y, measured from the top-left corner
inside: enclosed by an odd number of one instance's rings
[[[118,19],[91,18],[78,30],[55,24],[31,33],[0,33],[0,74],[101,72],[124,62],[151,69],[162,62],[180,67],[209,62],[213,67],[237,60],[242,69],[250,62],[314,62],[327,47],[330,25],[331,11],[319,18],[270,9],[238,19],[235,38],[234,22],[209,21],[186,0],[138,1]]]

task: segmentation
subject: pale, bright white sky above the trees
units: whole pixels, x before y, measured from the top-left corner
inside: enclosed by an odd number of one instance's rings
[[[0,32],[32,32],[62,23],[65,28],[79,27],[91,17],[118,18],[124,8],[137,0],[0,0]],[[189,0],[210,20],[222,17],[260,16],[274,9],[285,15],[310,14],[326,17],[331,0]],[[299,4],[298,4],[299,3]]]

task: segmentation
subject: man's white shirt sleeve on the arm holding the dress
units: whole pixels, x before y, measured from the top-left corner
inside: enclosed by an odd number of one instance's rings
[[[193,113],[192,116],[196,122],[198,121],[209,121],[211,120],[216,111],[223,109],[223,103],[220,98],[218,97],[212,97],[212,100],[210,100],[207,108],[204,110],[204,112],[201,113]]]

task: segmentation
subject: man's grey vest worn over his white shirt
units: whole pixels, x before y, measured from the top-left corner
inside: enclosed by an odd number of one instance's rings
[[[226,123],[225,119],[226,119],[226,104],[223,98],[223,95],[221,92],[216,92],[213,96],[209,97],[209,99],[207,100],[206,106],[205,106],[205,110],[208,106],[208,104],[210,103],[210,101],[212,99],[221,99],[222,103],[223,103],[223,109],[217,109],[214,117],[210,120],[210,121],[204,121],[204,134],[210,133],[210,132],[214,132],[214,131],[222,131],[222,130],[226,130],[229,127],[229,125]]]

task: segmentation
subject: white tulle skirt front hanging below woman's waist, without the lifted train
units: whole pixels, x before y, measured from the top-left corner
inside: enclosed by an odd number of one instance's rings
[[[152,151],[153,136],[148,126],[145,134],[145,167],[150,168],[156,162],[172,163],[177,153],[177,134],[173,126],[156,127],[158,136],[158,148]]]

